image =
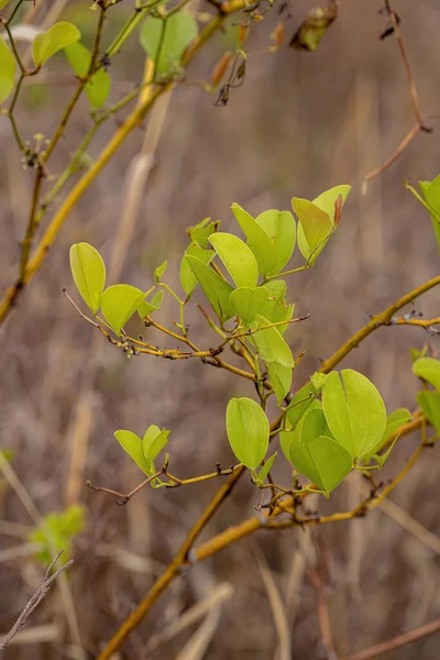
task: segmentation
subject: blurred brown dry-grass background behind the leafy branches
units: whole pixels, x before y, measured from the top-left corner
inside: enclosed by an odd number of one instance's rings
[[[55,4],[38,0],[34,23],[42,24]],[[96,24],[90,0],[64,4],[59,15],[75,22],[87,42]],[[1,632],[10,629],[44,574],[29,537],[37,516],[85,506],[68,593],[52,590],[21,637],[8,647],[8,660],[77,658],[76,629],[85,657],[96,657],[170,561],[219,487],[215,481],[175,491],[145,490],[128,506],[116,506],[113,497],[86,487],[91,480],[125,492],[142,480],[113,431],[130,429],[142,436],[150,424],[166,427],[172,430],[173,472],[180,477],[202,474],[232,458],[224,433],[229,398],[253,396],[252,384],[221,370],[196,361],[148,356],[128,361],[96,336],[62,293],[66,287],[76,295],[68,266],[72,243],[90,242],[107,264],[113,264],[120,276],[109,284],[127,282],[146,290],[153,284],[152,271],[167,258],[165,279],[178,287],[186,227],[209,216],[221,220],[226,231],[235,231],[233,201],[256,215],[268,208],[289,209],[293,196],[312,199],[331,186],[350,184],[352,194],[337,234],[316,267],[290,280],[296,311],[311,315],[287,334],[295,355],[306,351],[295,372],[295,388],[316,371],[320,358],[329,356],[367,322],[370,314],[438,275],[429,217],[403,182],[431,180],[440,172],[440,7],[437,0],[395,0],[393,6],[402,19],[422,114],[432,117],[426,123],[435,132],[420,133],[389,169],[370,183],[365,195],[363,177],[386,161],[415,123],[397,44],[393,36],[380,41],[386,28],[382,1],[341,2],[340,15],[318,51],[298,53],[288,47],[288,38],[314,3],[292,0],[292,18],[278,14],[275,7],[264,21],[252,25],[245,80],[231,90],[227,107],[215,107],[216,94],[191,85],[177,87],[161,101],[156,119],[163,125],[154,163],[148,176],[141,176],[134,186],[141,196],[139,212],[130,217],[128,190],[133,177],[140,176],[136,157],[143,127],[73,210],[42,271],[0,329],[0,447],[11,452],[11,465],[36,507],[26,510],[0,475]],[[199,10],[208,11],[209,6]],[[106,40],[129,11],[122,2],[110,12]],[[285,44],[277,53],[262,53],[271,45],[278,21],[285,24]],[[190,66],[188,78],[209,79],[216,62],[233,44],[233,31],[232,26],[216,36]],[[133,35],[110,68],[112,101],[142,79],[144,53]],[[31,141],[36,133],[52,135],[75,85],[63,58],[54,61],[51,72],[47,85],[26,85],[20,106],[19,122]],[[91,157],[100,153],[117,121],[107,122],[92,141]],[[89,127],[84,100],[51,162],[52,174],[65,166]],[[4,290],[16,275],[33,183],[32,170],[23,170],[7,118],[0,121],[0,287]],[[416,308],[427,318],[438,316],[439,301],[439,292],[432,290],[416,301]],[[193,337],[211,345],[211,331],[194,302],[187,314]],[[170,326],[177,315],[168,297],[157,318]],[[143,331],[135,324],[131,329]],[[144,337],[164,343],[150,329]],[[420,350],[428,340],[438,351],[440,340],[421,329],[384,328],[342,366],[365,373],[389,411],[398,406],[414,408],[418,383],[411,375],[409,351]],[[397,474],[417,442],[410,436],[398,444],[385,477]],[[276,468],[277,481],[288,480],[287,465],[282,463]],[[191,568],[155,605],[119,658],[284,660],[278,626],[282,622],[283,629],[284,620],[292,658],[330,660],[318,616],[322,594],[334,657],[437,618],[439,477],[438,454],[427,451],[393,493],[392,503],[366,519],[312,532],[260,532]],[[320,508],[352,508],[360,501],[361,485],[354,475],[330,503],[319,501]],[[254,515],[256,504],[257,493],[244,480],[204,538]],[[322,588],[317,588],[317,575]],[[282,614],[274,605],[274,588]],[[195,604],[201,613],[196,616],[196,609],[193,623],[185,625],[182,614]],[[440,636],[386,658],[436,660]]]

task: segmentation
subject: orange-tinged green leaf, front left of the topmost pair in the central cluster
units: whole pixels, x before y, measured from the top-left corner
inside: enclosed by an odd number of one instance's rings
[[[331,232],[330,216],[307,199],[294,197],[292,206],[298,216],[298,248],[307,263],[314,265]]]

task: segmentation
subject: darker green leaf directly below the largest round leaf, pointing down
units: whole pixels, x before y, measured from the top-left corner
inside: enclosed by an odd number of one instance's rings
[[[293,438],[288,450],[293,465],[323,491],[327,497],[352,469],[352,459],[346,449],[326,436],[306,442]]]

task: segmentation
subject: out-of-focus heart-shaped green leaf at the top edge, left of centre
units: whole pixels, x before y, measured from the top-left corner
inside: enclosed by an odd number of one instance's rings
[[[179,11],[166,21],[148,16],[142,24],[140,41],[148,57],[156,63],[156,74],[162,76],[179,65],[197,34],[197,21],[189,13]]]

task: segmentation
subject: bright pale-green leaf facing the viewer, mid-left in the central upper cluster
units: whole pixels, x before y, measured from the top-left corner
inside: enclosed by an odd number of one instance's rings
[[[254,287],[258,282],[258,264],[252,250],[233,234],[218,232],[209,241],[237,286]]]

